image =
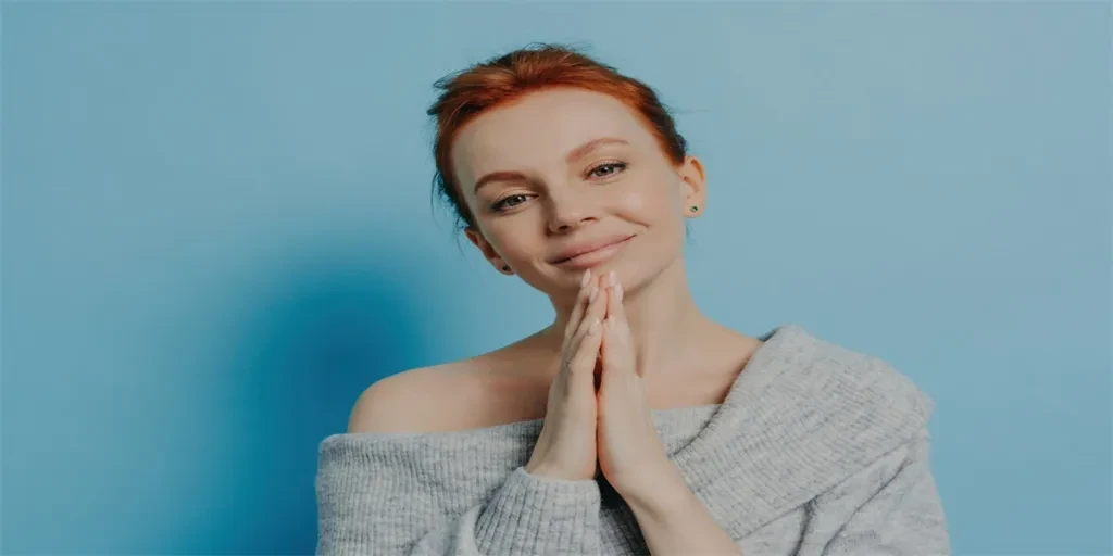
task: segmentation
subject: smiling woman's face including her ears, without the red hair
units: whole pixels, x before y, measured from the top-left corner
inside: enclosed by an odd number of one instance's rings
[[[475,217],[469,239],[551,296],[574,294],[588,268],[615,270],[628,289],[651,279],[680,258],[690,208],[703,209],[699,160],[673,165],[636,112],[580,89],[481,115],[452,160]]]

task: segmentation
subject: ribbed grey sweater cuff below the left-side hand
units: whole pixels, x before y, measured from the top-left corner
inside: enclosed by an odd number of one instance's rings
[[[599,484],[553,480],[514,469],[480,514],[481,554],[599,552]]]

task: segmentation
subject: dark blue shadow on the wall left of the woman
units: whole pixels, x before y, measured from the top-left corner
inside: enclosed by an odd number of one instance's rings
[[[197,514],[188,546],[207,554],[313,554],[317,537],[317,448],[343,433],[356,397],[422,359],[410,277],[375,260],[299,262],[269,271],[249,311],[227,379],[236,418],[218,489]],[[208,543],[198,543],[199,539]],[[204,546],[201,546],[204,545]]]

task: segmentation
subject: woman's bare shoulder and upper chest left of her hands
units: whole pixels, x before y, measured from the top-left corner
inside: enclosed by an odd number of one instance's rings
[[[348,433],[443,433],[539,418],[548,381],[518,363],[491,353],[383,378],[359,395]]]

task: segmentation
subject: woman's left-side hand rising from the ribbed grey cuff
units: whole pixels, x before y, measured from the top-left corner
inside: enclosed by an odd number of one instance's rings
[[[590,271],[584,272],[564,329],[560,369],[549,386],[545,420],[525,465],[530,475],[564,480],[594,478],[598,416],[594,370],[605,302],[598,280]]]

